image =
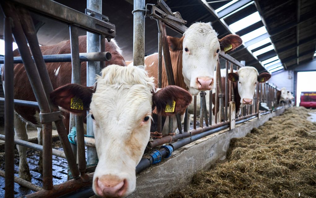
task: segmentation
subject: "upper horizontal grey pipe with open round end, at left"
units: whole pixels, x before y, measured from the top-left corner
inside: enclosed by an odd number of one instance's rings
[[[79,53],[79,59],[81,62],[85,61],[110,61],[112,55],[110,52],[90,52],[90,53]],[[34,60],[34,57],[32,56]],[[71,54],[52,54],[43,55],[44,62],[71,62]],[[0,58],[0,64],[3,64],[4,59]],[[23,63],[21,56],[13,58],[13,63]]]

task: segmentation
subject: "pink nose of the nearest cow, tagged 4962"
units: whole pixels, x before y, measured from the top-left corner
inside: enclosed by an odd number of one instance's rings
[[[96,194],[101,197],[122,197],[127,190],[126,179],[117,176],[103,175],[94,181]]]

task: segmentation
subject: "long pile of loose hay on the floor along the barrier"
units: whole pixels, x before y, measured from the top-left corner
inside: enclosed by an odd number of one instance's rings
[[[316,123],[304,107],[234,138],[225,163],[168,197],[316,197]]]

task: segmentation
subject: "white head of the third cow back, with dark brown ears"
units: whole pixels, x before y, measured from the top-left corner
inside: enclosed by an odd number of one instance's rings
[[[254,67],[241,67],[236,73],[228,73],[228,79],[238,83],[240,107],[251,105],[257,83],[263,83],[269,80],[270,77],[270,73],[261,73],[259,75],[258,70]]]

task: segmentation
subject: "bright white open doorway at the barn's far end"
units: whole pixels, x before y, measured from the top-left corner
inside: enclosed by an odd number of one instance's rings
[[[297,92],[296,92],[296,106],[300,105],[301,92],[316,92],[316,86],[313,79],[316,76],[316,71],[313,72],[297,72]]]

